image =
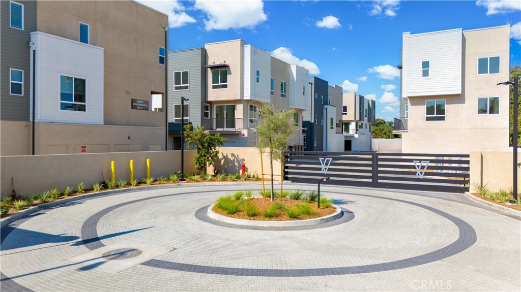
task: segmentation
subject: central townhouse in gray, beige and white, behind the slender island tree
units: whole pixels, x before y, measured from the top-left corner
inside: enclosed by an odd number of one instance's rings
[[[271,102],[280,110],[293,108],[299,130],[291,145],[300,146],[307,76],[306,69],[276,59],[241,39],[170,51],[170,139],[178,147],[184,97],[189,99],[184,102],[184,123],[218,132],[228,139],[224,145],[228,147],[255,147],[261,102]]]

